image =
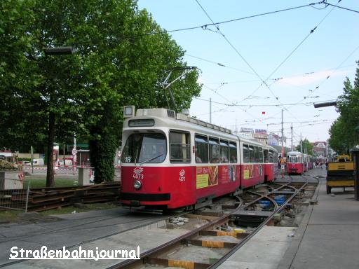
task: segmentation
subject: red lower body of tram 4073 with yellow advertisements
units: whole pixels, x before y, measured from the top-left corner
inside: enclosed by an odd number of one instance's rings
[[[264,164],[122,166],[121,203],[130,207],[167,209],[195,205],[205,199],[263,183],[264,169]]]

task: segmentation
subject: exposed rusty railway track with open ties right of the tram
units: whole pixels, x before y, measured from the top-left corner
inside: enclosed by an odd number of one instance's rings
[[[310,187],[310,188],[309,188]],[[315,188],[306,183],[287,182],[283,184],[267,184],[255,191],[247,191],[242,195],[236,206],[222,205],[223,214],[217,212],[200,211],[194,214],[185,214],[189,219],[205,219],[208,223],[194,228],[184,235],[150,249],[141,254],[140,260],[124,261],[108,267],[115,268],[217,268],[234,252],[241,249],[266,224],[273,222],[290,202],[304,191],[313,191]],[[285,198],[278,200],[277,198]],[[262,210],[257,210],[258,208]],[[250,225],[246,230],[236,229],[239,225]],[[239,232],[238,232],[239,231]],[[231,240],[229,240],[231,238]],[[193,256],[193,252],[201,256]],[[192,252],[192,254],[191,254]],[[189,254],[190,253],[190,254]]]

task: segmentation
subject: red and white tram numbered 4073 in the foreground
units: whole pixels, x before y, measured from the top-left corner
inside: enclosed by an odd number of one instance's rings
[[[187,207],[264,182],[263,144],[172,110],[137,110],[122,138],[123,205]]]

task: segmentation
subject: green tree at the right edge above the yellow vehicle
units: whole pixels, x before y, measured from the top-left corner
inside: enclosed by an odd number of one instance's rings
[[[329,139],[330,147],[338,153],[348,153],[359,144],[359,68],[356,69],[353,85],[346,78],[343,91],[337,99],[340,116],[330,127]]]

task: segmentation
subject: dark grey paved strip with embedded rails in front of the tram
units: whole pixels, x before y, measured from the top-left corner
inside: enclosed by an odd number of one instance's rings
[[[62,216],[64,220],[0,226],[0,266],[8,263],[9,242],[19,242],[29,249],[50,245],[54,249],[72,247],[84,242],[121,234],[142,225],[167,219],[168,216],[133,214],[126,209],[109,209]],[[25,248],[25,247],[24,247]]]

